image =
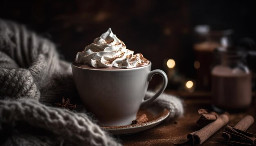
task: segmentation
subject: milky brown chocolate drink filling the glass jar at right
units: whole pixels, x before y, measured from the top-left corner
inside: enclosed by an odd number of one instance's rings
[[[228,66],[215,66],[212,75],[212,102],[221,109],[242,109],[252,100],[251,74]]]

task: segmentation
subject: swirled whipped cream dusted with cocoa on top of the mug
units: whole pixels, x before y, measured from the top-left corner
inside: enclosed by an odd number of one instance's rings
[[[113,66],[127,69],[149,64],[142,54],[133,53],[109,28],[84,51],[76,54],[76,63],[89,64],[94,68]]]

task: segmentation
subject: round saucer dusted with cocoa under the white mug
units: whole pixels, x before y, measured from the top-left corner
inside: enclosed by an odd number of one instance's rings
[[[168,115],[170,114],[170,111],[168,111],[166,108],[153,105],[145,108],[140,108],[137,113],[137,116],[140,116],[144,113],[148,117],[148,122],[146,123],[126,125],[126,126],[101,127],[101,128],[112,133],[113,135],[133,134],[133,133],[137,133],[137,132],[152,128],[157,124],[161,123],[164,119],[166,119],[166,117],[168,117]]]

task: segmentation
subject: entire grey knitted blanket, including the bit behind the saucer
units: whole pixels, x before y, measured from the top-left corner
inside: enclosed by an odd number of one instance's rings
[[[81,104],[70,62],[59,59],[51,41],[0,19],[0,145],[121,145],[83,105],[74,111],[54,106],[62,97]],[[171,118],[183,114],[177,97],[162,94],[155,103],[168,108]]]

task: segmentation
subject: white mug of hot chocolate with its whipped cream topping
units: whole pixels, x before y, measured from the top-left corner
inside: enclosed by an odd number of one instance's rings
[[[142,54],[133,53],[108,29],[84,51],[78,52],[76,62],[71,65],[79,96],[101,126],[131,124],[139,107],[155,100],[167,86],[164,71],[150,71],[151,62]],[[163,77],[162,87],[144,99],[155,74]]]

